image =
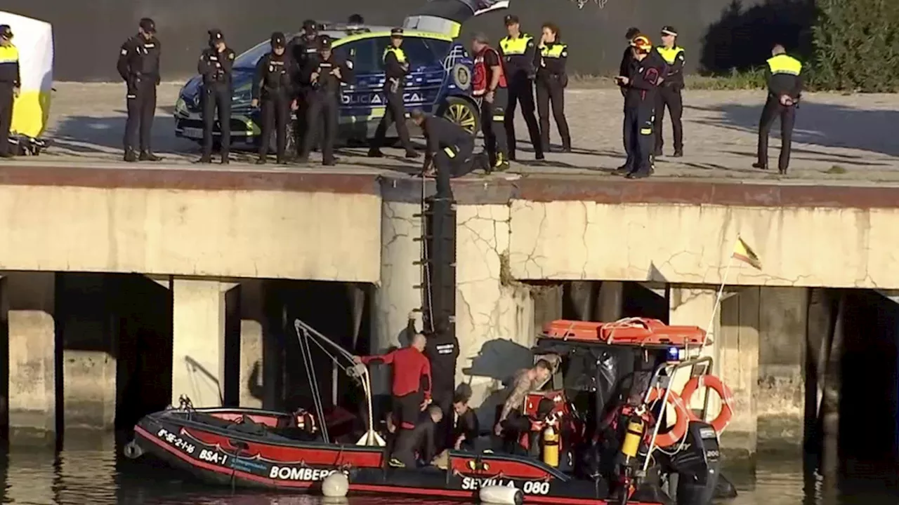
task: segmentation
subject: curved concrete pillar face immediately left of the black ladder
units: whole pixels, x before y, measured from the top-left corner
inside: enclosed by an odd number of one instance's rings
[[[381,204],[381,282],[375,295],[375,322],[371,352],[380,353],[400,345],[409,311],[421,308],[422,218],[419,203],[384,201]],[[417,315],[421,329],[421,315]],[[389,393],[389,369],[372,368],[372,389],[375,394]]]

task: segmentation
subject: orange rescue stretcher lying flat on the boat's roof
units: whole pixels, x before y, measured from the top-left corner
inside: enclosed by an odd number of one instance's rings
[[[612,323],[559,319],[543,326],[544,338],[630,346],[686,347],[702,345],[699,326],[669,326],[658,319],[628,317]]]

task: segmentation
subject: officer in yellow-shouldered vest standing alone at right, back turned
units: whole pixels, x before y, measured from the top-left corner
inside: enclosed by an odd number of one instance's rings
[[[781,144],[778,169],[783,175],[789,165],[796,110],[802,97],[802,62],[788,56],[787,50],[777,44],[771,49],[767,73],[768,101],[759,120],[759,161],[752,166],[768,170],[768,133],[774,120],[779,117]]]

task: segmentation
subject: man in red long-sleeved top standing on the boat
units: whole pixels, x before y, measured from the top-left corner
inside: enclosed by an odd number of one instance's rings
[[[391,411],[394,424],[403,430],[414,429],[415,421],[431,403],[431,361],[424,356],[426,343],[422,333],[415,333],[409,347],[382,356],[354,358],[357,363],[380,361],[387,365],[393,364]]]

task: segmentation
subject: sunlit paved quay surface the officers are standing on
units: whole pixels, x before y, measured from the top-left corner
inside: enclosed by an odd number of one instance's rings
[[[163,84],[158,93],[154,125],[154,148],[165,156],[161,165],[120,164],[120,145],[125,124],[124,88],[120,84],[57,83],[47,137],[53,145],[37,159],[14,164],[57,167],[93,165],[112,168],[169,168],[220,170],[218,165],[189,164],[199,153],[195,144],[174,137],[172,111],[179,84]],[[530,178],[559,180],[619,179],[612,175],[622,163],[621,97],[615,89],[573,89],[567,93],[566,111],[573,132],[573,154],[550,154],[537,162],[530,143],[520,140],[518,164],[512,173]],[[793,161],[786,177],[752,168],[755,129],[764,93],[761,91],[686,91],[684,135],[686,155],[660,158],[656,177],[661,182],[754,182],[814,185],[899,185],[899,142],[893,133],[899,124],[899,95],[808,93],[798,111],[794,133]],[[519,138],[527,128],[519,119]],[[555,127],[553,127],[555,128]],[[775,125],[770,163],[776,165],[779,139]],[[665,128],[666,152],[671,152],[670,123]],[[555,129],[554,141],[557,142]],[[400,150],[388,149],[388,157],[372,160],[364,149],[341,149],[341,164],[327,173],[414,173],[418,162],[406,162]],[[396,157],[395,157],[396,156]],[[259,171],[252,153],[237,153],[229,171]],[[314,160],[316,158],[313,158]],[[324,168],[267,165],[262,172],[321,173]],[[478,177],[475,175],[474,177]],[[508,178],[508,175],[505,176]],[[643,183],[643,182],[631,182]]]

